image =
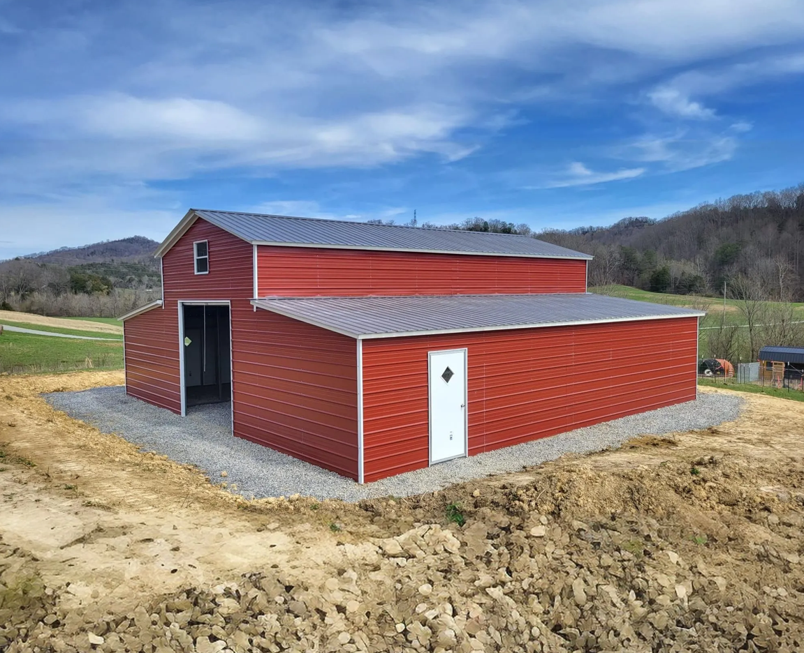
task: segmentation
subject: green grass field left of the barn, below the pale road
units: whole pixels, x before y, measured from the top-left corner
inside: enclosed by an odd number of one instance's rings
[[[121,369],[122,341],[73,340],[30,333],[0,336],[0,373],[68,372]]]

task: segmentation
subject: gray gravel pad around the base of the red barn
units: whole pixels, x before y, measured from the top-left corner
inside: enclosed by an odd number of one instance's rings
[[[615,419],[550,438],[507,447],[470,458],[451,460],[375,483],[359,485],[268,447],[232,437],[231,403],[195,406],[182,418],[125,394],[123,386],[83,392],[45,394],[51,406],[115,433],[145,451],[157,451],[179,463],[191,463],[219,483],[237,484],[238,492],[256,498],[301,494],[318,499],[359,501],[376,496],[410,496],[490,474],[519,471],[523,466],[555,460],[566,453],[617,447],[638,435],[691,431],[736,419],[743,400],[734,395],[701,394],[695,402]]]

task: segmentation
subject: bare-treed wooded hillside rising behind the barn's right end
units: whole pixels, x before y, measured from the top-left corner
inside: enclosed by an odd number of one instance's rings
[[[717,295],[725,282],[729,296],[801,299],[804,184],[734,195],[661,220],[624,218],[536,237],[594,255],[593,286]]]

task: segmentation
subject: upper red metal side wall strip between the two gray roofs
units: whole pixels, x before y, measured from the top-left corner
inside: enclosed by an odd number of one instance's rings
[[[257,248],[259,296],[585,292],[586,261],[316,247]]]

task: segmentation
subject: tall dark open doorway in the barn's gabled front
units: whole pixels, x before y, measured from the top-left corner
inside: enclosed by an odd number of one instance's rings
[[[232,399],[228,304],[181,304],[185,406]]]

